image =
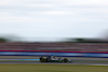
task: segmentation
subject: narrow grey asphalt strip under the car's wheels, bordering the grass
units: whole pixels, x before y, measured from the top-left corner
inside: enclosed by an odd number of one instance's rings
[[[0,64],[106,64],[108,62],[39,62],[39,61],[0,61]]]

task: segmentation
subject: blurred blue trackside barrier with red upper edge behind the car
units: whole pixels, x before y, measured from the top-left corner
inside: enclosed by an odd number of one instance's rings
[[[0,56],[59,56],[59,57],[100,57],[108,58],[108,52],[14,52],[0,51]]]

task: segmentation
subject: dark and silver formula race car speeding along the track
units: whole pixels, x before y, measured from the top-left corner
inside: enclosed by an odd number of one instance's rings
[[[41,62],[72,62],[71,60],[67,58],[60,58],[60,57],[55,57],[55,56],[50,56],[50,57],[40,57]]]

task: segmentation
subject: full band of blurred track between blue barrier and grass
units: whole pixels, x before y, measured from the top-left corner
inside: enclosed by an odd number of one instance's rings
[[[78,58],[69,57],[73,62],[40,62],[39,57],[0,56],[0,64],[104,64],[108,66],[108,58]],[[5,59],[5,60],[4,60]],[[12,60],[13,59],[13,60]],[[26,60],[27,59],[27,60]]]

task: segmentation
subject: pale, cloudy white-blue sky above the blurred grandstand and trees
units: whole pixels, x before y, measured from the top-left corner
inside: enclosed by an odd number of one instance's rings
[[[0,34],[97,38],[107,29],[108,0],[0,0]]]

